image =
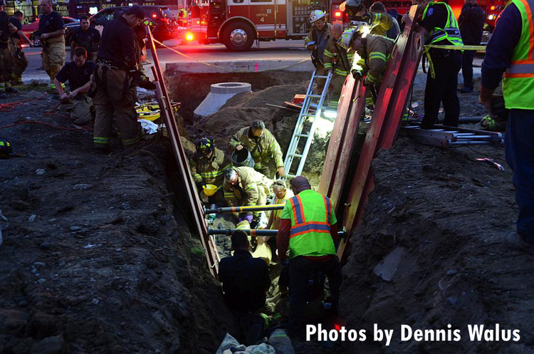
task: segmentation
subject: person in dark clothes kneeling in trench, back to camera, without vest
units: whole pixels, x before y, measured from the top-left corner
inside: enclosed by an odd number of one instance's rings
[[[246,232],[234,231],[231,236],[234,255],[221,259],[219,281],[223,283],[226,304],[240,320],[246,345],[254,345],[263,338],[269,326],[269,318],[262,311],[271,278],[266,261],[253,258],[249,247]]]

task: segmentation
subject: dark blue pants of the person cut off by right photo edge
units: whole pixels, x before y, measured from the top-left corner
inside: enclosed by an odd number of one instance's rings
[[[506,125],[506,162],[513,170],[518,234],[534,242],[534,110],[510,110]]]

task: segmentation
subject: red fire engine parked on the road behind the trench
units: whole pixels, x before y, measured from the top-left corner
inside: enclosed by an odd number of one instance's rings
[[[375,0],[365,0],[367,8]],[[498,4],[506,0],[487,0]],[[464,0],[447,1],[460,15]],[[310,31],[313,10],[326,11],[331,23],[347,24],[340,11],[342,0],[193,0],[189,6],[187,31],[182,39],[199,43],[224,43],[231,51],[248,51],[253,41],[302,39]],[[382,0],[387,11],[406,13],[411,0]],[[479,1],[483,9],[486,0]]]

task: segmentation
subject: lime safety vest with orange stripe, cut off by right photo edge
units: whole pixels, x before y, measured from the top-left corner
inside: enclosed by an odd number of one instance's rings
[[[513,48],[510,68],[504,73],[504,105],[534,110],[534,0],[512,0],[521,14],[521,36]],[[511,4],[508,3],[508,4]]]

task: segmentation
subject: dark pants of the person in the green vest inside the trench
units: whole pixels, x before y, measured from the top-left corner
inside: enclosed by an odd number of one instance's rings
[[[295,332],[303,330],[306,291],[311,271],[322,271],[328,277],[330,299],[335,306],[340,298],[341,266],[337,256],[330,261],[313,261],[297,256],[289,261],[289,329]]]

